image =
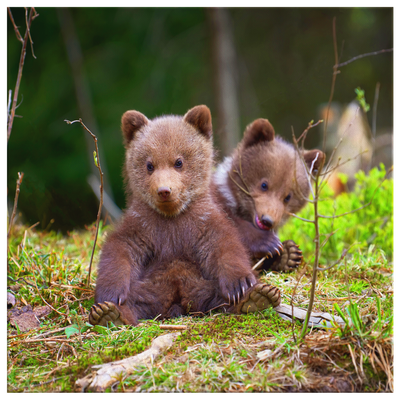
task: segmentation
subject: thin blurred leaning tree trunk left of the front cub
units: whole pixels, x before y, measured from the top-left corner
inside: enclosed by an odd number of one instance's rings
[[[71,11],[68,8],[69,6],[66,5],[63,8],[57,8],[57,16],[61,26],[61,33],[64,39],[65,48],[68,54],[68,60],[72,69],[72,77],[74,80],[74,88],[76,99],[78,103],[78,116],[71,116],[72,119],[79,119],[82,118],[84,124],[96,135],[98,139],[98,147],[100,153],[100,162],[101,162],[101,169],[103,171],[103,182],[104,182],[104,192],[107,195],[107,198],[110,200],[111,207],[104,204],[102,214],[105,214],[107,210],[111,216],[116,219],[120,215],[120,210],[118,207],[113,203],[113,195],[111,186],[108,181],[108,171],[107,171],[107,164],[104,157],[104,151],[102,150],[102,142],[101,142],[101,133],[97,126],[96,118],[93,112],[92,106],[92,98],[90,95],[90,88],[88,85],[88,81],[86,78],[84,66],[83,66],[83,57],[81,46],[79,43],[78,36],[76,34],[74,21],[71,15]],[[85,136],[86,141],[86,150],[89,157],[89,165],[91,169],[91,175],[88,176],[88,180],[93,182],[93,179],[99,176],[99,171],[94,164],[93,160],[93,151],[95,150],[93,138],[86,132],[82,131],[82,134]],[[94,178],[93,178],[94,177]],[[100,185],[100,179],[97,179]],[[92,185],[91,185],[92,186]],[[92,189],[97,197],[100,192],[100,189],[96,191],[93,186]],[[116,210],[116,212],[114,212]]]

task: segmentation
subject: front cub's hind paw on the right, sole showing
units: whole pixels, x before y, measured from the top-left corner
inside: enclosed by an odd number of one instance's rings
[[[265,310],[268,307],[277,307],[281,304],[281,292],[275,286],[266,283],[258,283],[238,305],[239,313]]]

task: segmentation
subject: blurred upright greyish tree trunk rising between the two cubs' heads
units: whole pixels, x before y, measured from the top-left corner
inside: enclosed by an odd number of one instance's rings
[[[214,132],[222,156],[229,155],[240,140],[237,96],[237,64],[232,21],[227,9],[207,9],[211,30],[214,90],[217,115]]]

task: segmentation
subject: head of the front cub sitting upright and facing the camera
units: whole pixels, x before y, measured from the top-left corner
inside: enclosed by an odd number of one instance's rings
[[[124,113],[121,125],[130,199],[171,217],[208,192],[213,146],[207,106],[196,106],[183,117],[167,115],[153,120],[131,110]]]

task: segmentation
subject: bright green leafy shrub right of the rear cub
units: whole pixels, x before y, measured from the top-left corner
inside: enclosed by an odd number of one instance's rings
[[[383,164],[380,168],[373,168],[369,174],[359,171],[356,173],[354,191],[342,193],[336,198],[332,190],[324,185],[318,209],[320,215],[326,216],[340,215],[360,208],[371,200],[375,190],[376,193],[372,203],[359,211],[334,219],[319,219],[321,243],[328,234],[335,232],[321,250],[321,264],[339,259],[342,251],[353,244],[355,246],[350,253],[357,248],[367,249],[374,244],[389,259],[392,258],[396,252],[396,180],[388,179],[382,183],[385,175]],[[312,204],[309,203],[298,215],[313,220]],[[291,218],[279,232],[281,240],[293,239],[300,245],[307,261],[311,261],[308,257],[313,255],[314,235],[314,224],[297,218]]]

